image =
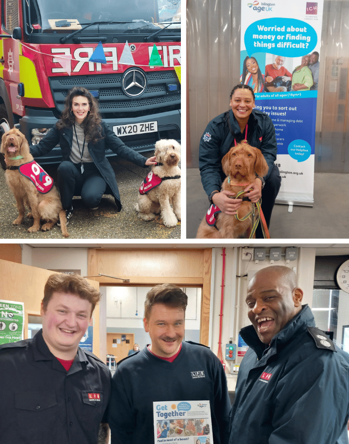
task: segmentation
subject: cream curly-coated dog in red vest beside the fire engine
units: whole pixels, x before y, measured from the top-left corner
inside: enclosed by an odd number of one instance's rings
[[[180,145],[173,139],[155,144],[157,164],[140,186],[136,210],[138,217],[151,221],[161,212],[164,225],[180,221]]]

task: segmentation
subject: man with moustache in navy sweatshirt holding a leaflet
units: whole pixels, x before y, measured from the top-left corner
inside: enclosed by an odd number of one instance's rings
[[[228,442],[225,372],[208,347],[183,342],[187,300],[172,284],[157,285],[148,292],[143,322],[151,344],[120,361],[112,378],[108,407],[112,444],[153,444],[159,421],[153,415],[153,403],[195,400],[209,402],[212,441]],[[162,419],[171,423],[171,418]]]

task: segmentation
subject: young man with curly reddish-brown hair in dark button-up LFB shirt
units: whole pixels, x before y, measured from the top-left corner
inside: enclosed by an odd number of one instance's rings
[[[79,347],[100,297],[79,275],[52,274],[42,330],[0,345],[1,443],[108,443],[110,371]]]

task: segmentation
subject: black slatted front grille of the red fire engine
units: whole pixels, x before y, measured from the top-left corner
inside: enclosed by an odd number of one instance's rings
[[[147,86],[138,98],[131,98],[121,89],[122,74],[50,77],[52,96],[57,110],[62,111],[64,100],[73,86],[83,86],[98,92],[100,110],[109,112],[135,112],[150,114],[154,109],[159,112],[180,109],[180,84],[174,71],[145,73]],[[167,84],[176,84],[177,91],[167,92]]]

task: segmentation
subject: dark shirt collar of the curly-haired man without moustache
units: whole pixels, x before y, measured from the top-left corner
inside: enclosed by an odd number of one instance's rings
[[[52,361],[52,368],[55,370],[66,371],[62,364],[50,352],[43,336],[42,329],[37,332],[33,338],[33,355],[34,361]],[[82,363],[87,363],[88,359],[85,352],[78,347],[74,362],[70,367],[69,374],[82,370]]]

